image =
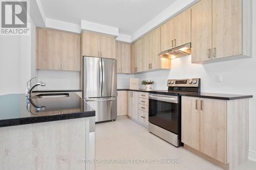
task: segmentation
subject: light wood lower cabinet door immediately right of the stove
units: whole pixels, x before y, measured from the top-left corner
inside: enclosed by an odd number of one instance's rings
[[[181,141],[200,150],[200,99],[181,98]]]

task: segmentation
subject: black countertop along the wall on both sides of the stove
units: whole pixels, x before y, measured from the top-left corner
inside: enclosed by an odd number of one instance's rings
[[[117,89],[117,90],[131,90],[131,91],[142,91],[142,92],[153,92],[153,93],[161,93],[161,94],[172,94],[168,93],[167,90],[145,90],[145,89]],[[207,92],[189,92],[189,93],[179,93],[181,96],[191,96],[195,98],[208,98],[208,99],[219,99],[219,100],[237,100],[237,99],[245,99],[252,98],[252,95],[241,95],[241,94],[224,94],[224,93],[207,93]]]

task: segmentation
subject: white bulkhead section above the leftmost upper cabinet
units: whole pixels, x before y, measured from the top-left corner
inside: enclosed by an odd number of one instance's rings
[[[81,33],[80,25],[51,18],[46,18],[46,27],[73,33]]]

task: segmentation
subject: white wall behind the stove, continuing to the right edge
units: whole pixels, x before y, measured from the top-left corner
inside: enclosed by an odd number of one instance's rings
[[[253,1],[253,16],[256,2]],[[216,82],[216,74],[222,74],[222,82]],[[167,79],[201,78],[201,91],[252,94],[249,101],[249,158],[256,161],[256,17],[253,17],[253,57],[212,64],[192,64],[191,56],[172,60],[172,69],[147,72],[135,78],[152,79],[154,89],[167,89]],[[144,88],[143,86],[141,86]]]

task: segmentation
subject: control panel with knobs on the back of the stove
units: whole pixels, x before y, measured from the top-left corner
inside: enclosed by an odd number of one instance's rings
[[[200,79],[170,79],[167,81],[167,86],[171,87],[199,87]]]

